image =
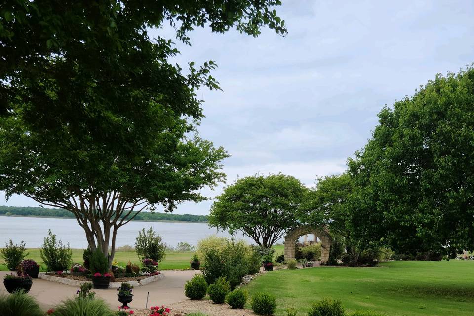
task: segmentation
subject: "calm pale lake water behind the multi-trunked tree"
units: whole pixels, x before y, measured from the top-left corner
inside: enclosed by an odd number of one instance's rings
[[[230,237],[227,232],[218,232],[215,228],[204,223],[168,223],[168,222],[138,222],[132,221],[118,229],[117,246],[135,244],[138,232],[142,228],[153,229],[163,237],[168,246],[176,246],[185,241],[196,245],[199,239],[210,235]],[[0,248],[4,247],[9,239],[13,243],[23,240],[27,248],[40,248],[48,229],[56,234],[63,243],[70,244],[71,248],[86,248],[85,233],[75,219],[41,218],[41,217],[7,217],[0,216]],[[236,234],[236,239],[244,239],[254,243],[242,234]]]

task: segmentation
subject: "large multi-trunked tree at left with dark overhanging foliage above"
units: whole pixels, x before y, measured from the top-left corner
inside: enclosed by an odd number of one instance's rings
[[[277,0],[3,1],[0,189],[71,211],[112,262],[118,228],[139,211],[205,197],[223,180],[222,148],[202,140],[199,87],[212,61],[183,72],[172,39],[208,26],[286,32]],[[111,245],[111,253],[108,252]]]

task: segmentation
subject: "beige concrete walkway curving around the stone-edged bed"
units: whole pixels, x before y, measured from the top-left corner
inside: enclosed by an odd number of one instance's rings
[[[0,271],[0,277],[8,274],[6,271]],[[129,304],[132,309],[145,308],[147,293],[150,293],[148,307],[156,305],[169,305],[186,300],[184,296],[184,284],[190,280],[196,271],[164,271],[165,277],[157,282],[145,286],[139,286],[133,289],[133,301]],[[30,293],[40,303],[44,309],[56,306],[61,301],[72,298],[76,295],[78,287],[66,284],[50,282],[42,279],[33,279],[33,286]],[[1,292],[7,293],[1,286]],[[111,307],[117,308],[120,304],[117,297],[117,289],[94,290],[96,297],[101,297]]]

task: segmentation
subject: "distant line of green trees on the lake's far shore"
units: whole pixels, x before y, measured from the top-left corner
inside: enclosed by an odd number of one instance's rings
[[[18,207],[18,206],[0,206],[0,215],[75,218],[73,213],[64,209],[42,208],[42,207]],[[149,222],[179,221],[179,222],[204,223],[204,222],[207,222],[207,217],[208,217],[207,215],[141,212],[133,220],[134,221],[149,221]]]

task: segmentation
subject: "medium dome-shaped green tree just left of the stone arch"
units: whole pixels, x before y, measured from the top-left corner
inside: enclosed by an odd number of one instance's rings
[[[258,245],[270,248],[286,232],[300,225],[300,205],[306,188],[281,173],[237,179],[215,198],[209,225],[240,230]]]

